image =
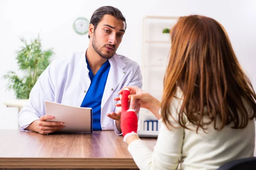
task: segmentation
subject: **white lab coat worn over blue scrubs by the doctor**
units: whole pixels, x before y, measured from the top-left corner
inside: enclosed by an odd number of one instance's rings
[[[75,52],[71,55],[52,61],[38,78],[29,95],[28,102],[18,114],[20,131],[33,121],[45,115],[44,101],[52,101],[64,105],[80,107],[84,96],[90,87],[89,70],[85,59],[86,51]],[[122,55],[114,54],[109,59],[111,68],[102,96],[101,126],[102,130],[115,130],[115,121],[107,113],[116,111],[114,98],[125,86],[142,88],[140,66]]]

